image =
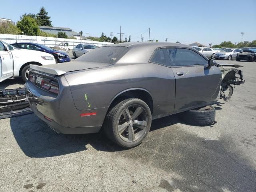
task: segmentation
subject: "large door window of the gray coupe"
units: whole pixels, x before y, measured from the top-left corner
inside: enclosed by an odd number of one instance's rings
[[[208,65],[205,58],[190,49],[169,48],[167,52],[171,66]]]

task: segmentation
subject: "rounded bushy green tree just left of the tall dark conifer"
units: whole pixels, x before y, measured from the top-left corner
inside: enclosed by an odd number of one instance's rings
[[[22,20],[18,21],[17,27],[20,29],[20,31],[24,32],[24,35],[37,36],[39,33],[36,20],[30,16],[24,16]]]

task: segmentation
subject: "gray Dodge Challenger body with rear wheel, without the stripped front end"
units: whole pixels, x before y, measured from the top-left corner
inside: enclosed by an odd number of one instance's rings
[[[95,133],[102,127],[108,138],[130,148],[146,137],[153,119],[195,108],[207,119],[222,80],[215,64],[183,44],[111,44],[69,63],[30,65],[25,88],[34,113],[56,132]]]

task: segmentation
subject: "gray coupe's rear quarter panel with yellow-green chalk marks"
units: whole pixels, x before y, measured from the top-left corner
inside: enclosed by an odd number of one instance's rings
[[[79,110],[110,106],[126,90],[147,90],[153,100],[153,115],[174,110],[175,78],[171,68],[153,63],[116,64],[65,75]]]

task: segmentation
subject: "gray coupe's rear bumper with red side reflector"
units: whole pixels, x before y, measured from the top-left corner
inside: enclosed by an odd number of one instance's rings
[[[105,108],[78,110],[69,87],[60,90],[57,97],[27,81],[24,85],[32,111],[50,128],[62,134],[96,133],[100,130],[106,112]],[[86,115],[82,114],[90,114]]]

